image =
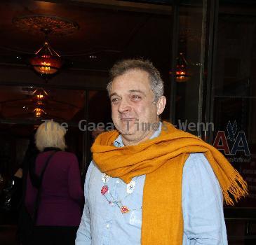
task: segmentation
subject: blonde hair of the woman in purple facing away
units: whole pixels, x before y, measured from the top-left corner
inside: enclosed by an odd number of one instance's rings
[[[66,130],[59,123],[48,120],[42,123],[36,130],[35,141],[39,151],[46,147],[60,148],[62,151],[67,147],[65,144]]]

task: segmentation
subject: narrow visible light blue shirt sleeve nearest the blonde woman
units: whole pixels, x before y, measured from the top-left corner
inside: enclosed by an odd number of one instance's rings
[[[90,210],[88,207],[88,182],[90,180],[90,174],[93,170],[93,162],[90,162],[86,173],[86,181],[84,183],[84,197],[85,204],[83,207],[83,215],[81,218],[81,223],[79,229],[76,233],[76,245],[90,245],[91,235],[90,235]]]

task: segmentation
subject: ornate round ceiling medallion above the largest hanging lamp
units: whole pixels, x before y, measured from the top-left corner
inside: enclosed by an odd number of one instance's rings
[[[50,30],[54,36],[65,36],[79,29],[79,25],[71,20],[65,20],[50,15],[26,15],[13,18],[13,24],[22,31],[41,34],[43,29]]]

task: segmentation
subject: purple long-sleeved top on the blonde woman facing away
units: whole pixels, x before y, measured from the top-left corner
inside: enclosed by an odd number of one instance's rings
[[[48,155],[40,153],[36,158],[36,174],[40,174]],[[37,189],[27,175],[25,205],[33,213]],[[58,151],[48,163],[41,185],[36,225],[78,226],[83,207],[83,190],[76,155]]]

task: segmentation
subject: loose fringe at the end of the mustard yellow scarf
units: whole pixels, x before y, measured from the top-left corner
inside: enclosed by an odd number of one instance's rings
[[[242,197],[248,195],[247,183],[243,180],[242,176],[234,169],[234,175],[230,177],[231,185],[227,190],[223,190],[224,202],[227,205],[234,206],[234,200],[238,202]],[[234,197],[233,199],[231,198]]]

